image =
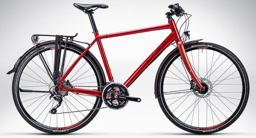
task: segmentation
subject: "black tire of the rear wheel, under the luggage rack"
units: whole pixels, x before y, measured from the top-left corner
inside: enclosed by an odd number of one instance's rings
[[[63,45],[65,45],[64,42],[63,42]],[[55,46],[55,43],[51,42],[51,43],[44,43],[42,45],[39,45],[37,48],[38,48],[38,51],[46,51],[50,48],[54,48],[54,46]],[[75,43],[68,43],[67,44],[67,50],[71,50],[71,51],[74,51],[74,53],[80,54],[85,50],[85,48],[83,48],[82,46],[79,46]],[[70,127],[70,128],[61,128],[61,129],[58,128],[58,130],[50,129],[50,128],[53,128],[53,127],[46,128],[46,126],[43,126],[43,124],[40,124],[39,122],[35,121],[26,112],[26,110],[24,109],[24,107],[22,105],[20,95],[19,95],[19,93],[20,93],[19,89],[18,89],[18,87],[19,87],[18,86],[19,85],[19,77],[21,75],[21,72],[24,69],[24,66],[30,61],[30,59],[32,59],[35,56],[37,56],[37,52],[36,52],[35,49],[28,52],[27,55],[25,55],[25,58],[23,58],[22,61],[19,63],[19,65],[17,67],[17,71],[15,72],[14,77],[13,77],[13,85],[12,85],[13,99],[14,99],[14,103],[15,103],[15,106],[16,106],[18,112],[21,114],[23,119],[27,123],[29,123],[32,127],[36,128],[40,131],[50,133],[50,134],[71,133],[71,132],[77,131],[77,130],[85,127],[91,120],[94,119],[94,117],[96,116],[96,114],[98,113],[99,110],[91,110],[91,111],[89,111],[89,113],[85,117],[85,119],[81,120],[81,122],[79,122],[78,124],[75,124],[74,126],[72,125],[72,127]],[[83,56],[83,59],[85,59],[90,64],[93,71],[95,72],[95,76],[97,78],[98,86],[104,86],[105,83],[106,83],[104,72],[103,72],[102,67],[100,66],[99,62],[97,61],[97,59],[94,57],[94,55],[91,54],[90,51],[88,51],[85,54],[85,56]],[[98,90],[102,90],[102,88],[98,88]],[[102,98],[101,97],[96,97],[96,101],[95,101],[95,104],[93,106],[93,109],[94,108],[100,108],[101,105],[102,105]]]

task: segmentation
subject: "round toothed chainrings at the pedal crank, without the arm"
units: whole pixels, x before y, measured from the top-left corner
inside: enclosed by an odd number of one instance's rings
[[[128,103],[127,100],[117,100],[113,96],[113,92],[125,96],[129,96],[127,87],[121,83],[109,83],[107,84],[102,93],[102,100],[104,104],[113,110],[119,110],[125,107]]]

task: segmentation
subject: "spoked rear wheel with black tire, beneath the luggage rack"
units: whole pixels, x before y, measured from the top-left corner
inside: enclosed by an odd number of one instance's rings
[[[64,47],[62,47],[64,49]],[[64,69],[67,70],[84,49],[68,44]],[[53,71],[55,43],[41,45],[39,53],[45,58],[49,68]],[[62,50],[63,54],[63,50]],[[62,56],[61,56],[62,57]],[[62,59],[62,58],[61,58]],[[95,57],[88,51],[71,71],[66,80],[71,85],[104,86],[105,80],[102,69]],[[102,98],[77,93],[63,93],[62,104],[57,108],[57,113],[49,111],[57,105],[54,98],[49,99],[50,93],[21,92],[19,88],[49,91],[53,82],[49,78],[36,50],[33,50],[21,61],[13,79],[13,98],[15,105],[22,117],[34,128],[47,133],[70,133],[86,126],[98,113],[98,110],[74,112],[99,108]],[[79,88],[79,87],[76,87]],[[87,89],[101,90],[100,87]]]

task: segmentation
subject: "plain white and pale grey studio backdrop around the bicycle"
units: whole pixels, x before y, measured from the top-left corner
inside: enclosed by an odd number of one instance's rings
[[[108,9],[95,11],[94,19],[99,34],[166,24],[168,6],[178,2],[186,12],[193,15],[189,28],[191,40],[203,38],[204,42],[217,43],[231,50],[244,64],[250,81],[249,100],[240,118],[215,135],[200,137],[255,136],[254,0],[1,0],[0,137],[53,137],[34,129],[19,115],[11,92],[13,74],[6,73],[33,46],[30,39],[32,34],[78,33],[75,40],[93,41],[89,18],[73,7],[74,2],[109,5]],[[169,30],[163,30],[102,40],[114,80],[124,83],[169,33]],[[103,109],[86,127],[55,137],[198,137],[172,124],[154,98],[154,79],[158,67],[173,49],[173,46],[167,48],[129,87],[131,96],[140,97],[141,103],[129,102],[124,109],[118,111]],[[97,45],[90,51],[102,63]],[[111,117],[118,118],[118,121]]]

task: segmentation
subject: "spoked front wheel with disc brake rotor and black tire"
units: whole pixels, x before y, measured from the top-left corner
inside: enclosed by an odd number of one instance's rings
[[[226,48],[213,43],[185,46],[201,91],[186,71],[178,49],[162,62],[155,93],[166,117],[192,133],[214,133],[230,126],[245,109],[249,80],[241,61]]]

